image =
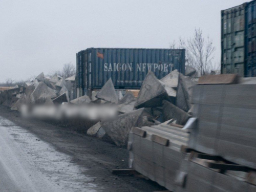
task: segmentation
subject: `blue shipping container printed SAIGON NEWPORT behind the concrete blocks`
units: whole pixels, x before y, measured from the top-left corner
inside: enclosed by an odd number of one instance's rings
[[[115,89],[125,90],[140,89],[150,70],[159,79],[175,69],[185,73],[185,49],[89,48],[76,58],[77,88],[89,96],[110,78]]]

